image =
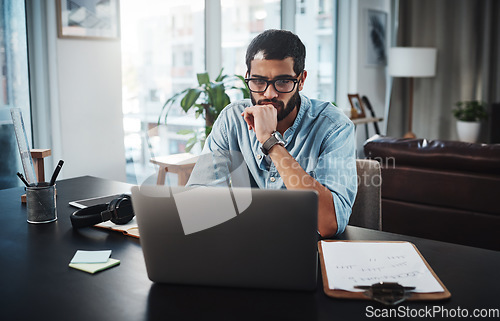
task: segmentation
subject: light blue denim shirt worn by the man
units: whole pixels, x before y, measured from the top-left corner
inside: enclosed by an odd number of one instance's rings
[[[297,117],[283,135],[285,148],[306,173],[331,191],[337,216],[337,234],[340,234],[349,221],[357,192],[354,125],[332,104],[309,99],[302,94],[300,98]],[[211,155],[211,161],[200,161],[200,158],[188,185],[228,182],[231,170],[221,169],[220,166],[215,168],[213,162],[219,158],[215,162],[220,164],[220,159],[234,159],[238,154],[241,162],[246,163],[250,179],[259,188],[286,188],[270,157],[261,151],[255,132],[248,130],[241,116],[243,110],[251,105],[251,101],[245,99],[222,110],[200,156]]]

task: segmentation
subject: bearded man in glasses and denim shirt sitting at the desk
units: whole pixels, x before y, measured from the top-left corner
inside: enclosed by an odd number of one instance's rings
[[[204,153],[241,153],[260,188],[317,191],[318,232],[327,237],[344,231],[356,196],[354,126],[330,103],[299,93],[307,78],[305,56],[289,31],[255,37],[246,54],[251,104],[238,101],[221,112]],[[206,185],[212,169],[204,163],[197,163],[188,185]]]

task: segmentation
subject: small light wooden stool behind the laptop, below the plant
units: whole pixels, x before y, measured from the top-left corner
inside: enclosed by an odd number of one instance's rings
[[[165,176],[167,172],[170,172],[176,173],[178,175],[179,186],[184,186],[193,171],[196,161],[198,161],[198,156],[191,153],[181,153],[153,157],[149,161],[159,166],[158,178],[156,180],[157,185],[164,185]]]

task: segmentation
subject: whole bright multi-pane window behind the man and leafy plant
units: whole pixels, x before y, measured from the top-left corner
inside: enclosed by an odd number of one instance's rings
[[[224,68],[224,74],[244,76],[249,42],[266,29],[281,28],[285,1],[294,10],[285,9],[283,18],[293,21],[290,18],[295,14],[293,31],[307,48],[308,78],[304,93],[332,101],[335,99],[337,0],[121,1],[123,111],[129,182],[137,183],[145,173],[154,173],[153,168],[148,167],[151,156],[184,152],[191,136],[179,134],[180,130],[204,126],[201,117],[196,119],[194,113],[186,115],[179,106],[170,110],[166,128],[158,128],[156,124],[163,103],[174,93],[195,86],[196,73],[206,70],[205,57],[213,56],[212,52],[212,55],[206,53],[205,42],[214,45],[213,41],[219,41],[219,37],[205,35],[205,5],[213,12],[220,3],[222,17],[210,22],[220,23],[222,56],[221,65],[211,67]],[[217,45],[214,46],[218,49]],[[232,100],[241,98],[239,91],[229,94]],[[149,135],[145,135],[147,131]],[[199,147],[192,152],[200,152]]]

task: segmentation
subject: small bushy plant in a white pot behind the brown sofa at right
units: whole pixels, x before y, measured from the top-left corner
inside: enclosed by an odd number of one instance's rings
[[[459,101],[453,115],[457,119],[457,133],[461,141],[475,143],[481,129],[481,120],[488,117],[484,103],[478,100]]]

